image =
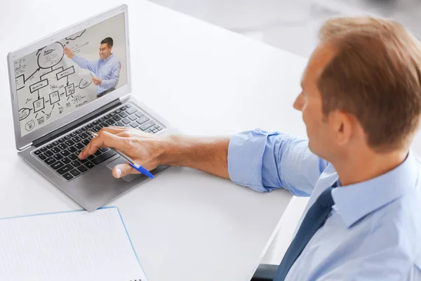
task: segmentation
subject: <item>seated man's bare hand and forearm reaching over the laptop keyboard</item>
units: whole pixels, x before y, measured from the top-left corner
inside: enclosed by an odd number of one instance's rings
[[[229,178],[227,154],[229,137],[156,136],[126,127],[107,127],[98,132],[79,155],[86,159],[99,148],[114,148],[131,157],[148,171],[160,165],[187,166]],[[114,166],[112,175],[121,178],[139,174],[128,163]]]

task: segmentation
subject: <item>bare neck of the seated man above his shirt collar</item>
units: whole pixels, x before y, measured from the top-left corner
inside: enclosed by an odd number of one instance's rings
[[[384,154],[375,152],[354,154],[345,159],[331,162],[338,172],[342,185],[350,185],[368,181],[391,171],[399,166],[407,157],[408,150]]]

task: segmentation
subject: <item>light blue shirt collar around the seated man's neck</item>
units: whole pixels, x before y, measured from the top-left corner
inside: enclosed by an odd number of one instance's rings
[[[404,195],[415,186],[417,176],[417,159],[410,151],[399,166],[385,174],[361,183],[333,188],[334,209],[349,228],[363,216]]]

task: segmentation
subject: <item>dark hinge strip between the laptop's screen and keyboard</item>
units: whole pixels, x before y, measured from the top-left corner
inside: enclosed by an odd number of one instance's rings
[[[87,115],[84,115],[83,117],[76,119],[74,122],[69,123],[65,126],[62,126],[61,128],[52,131],[51,133],[46,134],[45,136],[42,136],[41,138],[36,139],[33,142],[34,147],[39,147],[41,145],[44,145],[45,143],[48,143],[49,141],[53,140],[54,138],[57,138],[58,136],[61,136],[69,131],[72,131],[73,129],[77,128],[78,126],[81,126],[81,124],[87,123],[91,119],[95,119],[96,117],[102,115],[103,113],[109,111],[110,109],[117,107],[121,105],[120,99],[113,100],[111,103],[107,103],[107,105],[104,105],[98,110],[95,110],[91,113],[88,113]]]

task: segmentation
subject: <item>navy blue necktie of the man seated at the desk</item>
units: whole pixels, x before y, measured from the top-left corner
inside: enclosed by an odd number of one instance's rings
[[[309,208],[305,218],[302,220],[301,226],[297,234],[291,242],[290,247],[283,256],[282,262],[276,270],[274,281],[285,280],[288,271],[295,260],[300,256],[302,250],[305,248],[309,240],[313,237],[328,218],[333,206],[332,188],[335,188],[337,183],[334,183],[330,188],[326,189],[317,198],[316,202]]]

